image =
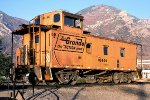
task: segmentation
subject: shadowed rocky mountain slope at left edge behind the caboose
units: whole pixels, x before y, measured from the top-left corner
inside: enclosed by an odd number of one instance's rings
[[[19,27],[21,24],[28,24],[28,21],[11,17],[0,11],[0,39],[2,40],[1,48],[3,53],[10,53],[11,48],[11,32]],[[14,46],[19,45],[20,37],[14,37]]]

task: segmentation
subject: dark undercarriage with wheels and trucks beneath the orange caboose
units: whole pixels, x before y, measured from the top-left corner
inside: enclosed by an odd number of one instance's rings
[[[135,71],[110,71],[110,70],[88,70],[88,69],[57,69],[52,68],[51,79],[46,79],[47,70],[41,67],[41,72],[35,72],[33,68],[16,68],[16,80],[28,81],[32,85],[37,85],[39,82],[45,82],[47,85],[54,84],[71,84],[75,85],[79,79],[84,78],[85,81],[94,81],[96,83],[113,82],[131,83],[138,77]],[[41,73],[40,79],[37,73]],[[28,80],[25,80],[26,78]]]

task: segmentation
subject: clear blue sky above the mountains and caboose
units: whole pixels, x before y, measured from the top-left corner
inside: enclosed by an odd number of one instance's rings
[[[53,10],[63,9],[76,13],[100,4],[125,10],[138,18],[150,18],[150,0],[1,0],[0,10],[11,16],[30,20]]]

